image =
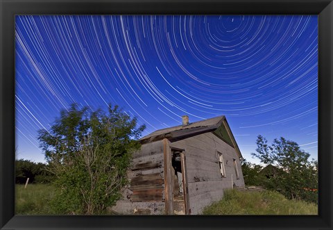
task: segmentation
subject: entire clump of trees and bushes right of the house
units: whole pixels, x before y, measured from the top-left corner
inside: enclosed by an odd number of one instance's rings
[[[247,186],[262,186],[267,190],[278,191],[288,199],[301,199],[318,204],[318,161],[309,161],[307,152],[285,138],[274,139],[272,145],[259,135],[256,165],[243,159],[241,170]]]

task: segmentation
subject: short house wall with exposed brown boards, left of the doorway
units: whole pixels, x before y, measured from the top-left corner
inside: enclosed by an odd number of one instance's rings
[[[162,140],[142,145],[133,154],[130,185],[113,211],[124,214],[164,214],[164,161]]]

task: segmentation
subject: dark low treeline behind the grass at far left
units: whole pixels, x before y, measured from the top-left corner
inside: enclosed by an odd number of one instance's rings
[[[15,161],[15,183],[51,183],[54,176],[49,172],[49,165],[19,159]]]

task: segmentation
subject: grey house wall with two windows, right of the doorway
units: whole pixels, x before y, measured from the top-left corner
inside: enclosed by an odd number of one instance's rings
[[[185,149],[191,214],[200,214],[205,206],[221,199],[223,190],[232,188],[232,183],[244,187],[236,151],[213,133],[171,142],[170,147]],[[218,151],[223,154],[226,177],[221,176]],[[233,159],[236,159],[239,179],[236,179]]]

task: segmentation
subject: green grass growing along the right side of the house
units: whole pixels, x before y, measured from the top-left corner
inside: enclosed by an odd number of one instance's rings
[[[318,215],[316,204],[286,199],[278,192],[226,190],[204,215]]]

